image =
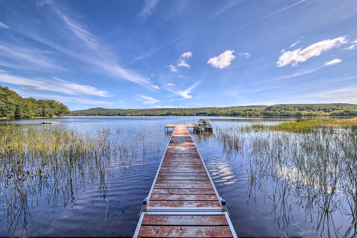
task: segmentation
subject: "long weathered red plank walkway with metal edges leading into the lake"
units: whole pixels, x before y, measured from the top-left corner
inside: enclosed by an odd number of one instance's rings
[[[186,125],[175,125],[133,237],[237,237]]]

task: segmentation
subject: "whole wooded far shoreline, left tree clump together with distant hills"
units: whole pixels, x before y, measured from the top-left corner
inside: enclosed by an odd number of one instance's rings
[[[278,104],[235,107],[107,109],[102,107],[69,111],[63,103],[49,99],[22,98],[0,85],[0,118],[54,116],[357,116],[357,105],[350,103]]]

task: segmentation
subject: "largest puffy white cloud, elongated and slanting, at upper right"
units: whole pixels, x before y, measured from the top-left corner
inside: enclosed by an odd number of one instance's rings
[[[335,39],[328,39],[312,44],[305,49],[297,49],[294,51],[285,51],[277,62],[278,67],[291,64],[297,66],[300,62],[305,62],[314,56],[319,56],[333,47],[340,47],[341,44],[346,44],[348,40],[346,36],[341,36]]]

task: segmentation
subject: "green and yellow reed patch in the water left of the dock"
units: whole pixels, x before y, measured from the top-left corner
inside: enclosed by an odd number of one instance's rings
[[[118,146],[109,134],[107,128],[90,135],[65,126],[0,124],[0,215],[8,231],[15,234],[22,227],[26,232],[29,207],[38,199],[66,207],[76,203],[78,189],[99,183],[98,196],[104,200],[114,167],[130,169],[137,150]]]

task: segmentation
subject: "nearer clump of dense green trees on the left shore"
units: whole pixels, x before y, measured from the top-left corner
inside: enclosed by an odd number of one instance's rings
[[[49,99],[22,98],[0,85],[0,118],[52,117],[69,114],[66,105]]]

